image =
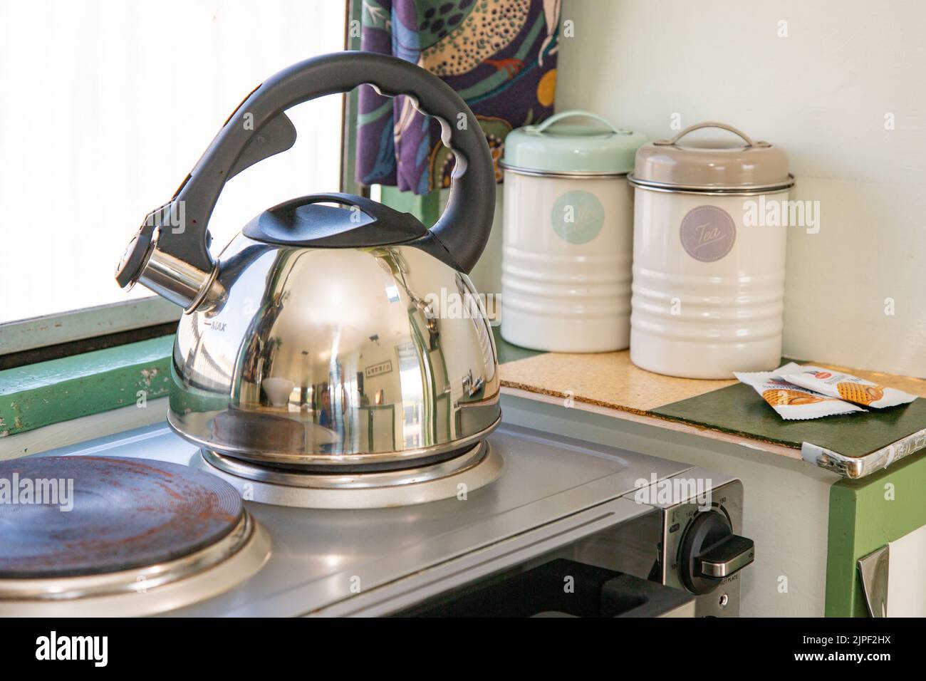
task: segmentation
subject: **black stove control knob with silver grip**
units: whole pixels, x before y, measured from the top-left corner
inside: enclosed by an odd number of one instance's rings
[[[724,513],[698,511],[682,538],[682,583],[695,594],[710,593],[755,558],[753,540],[734,535]]]

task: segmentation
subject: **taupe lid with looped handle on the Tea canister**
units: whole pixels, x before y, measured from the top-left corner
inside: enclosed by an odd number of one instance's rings
[[[740,139],[686,140],[689,132],[720,128]],[[670,140],[657,140],[637,151],[631,183],[650,189],[714,193],[777,191],[794,186],[788,157],[781,147],[753,141],[731,125],[698,123]]]

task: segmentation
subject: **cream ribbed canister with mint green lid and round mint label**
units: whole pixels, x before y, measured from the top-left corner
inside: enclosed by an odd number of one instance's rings
[[[555,352],[628,347],[627,174],[645,141],[585,111],[508,134],[501,333],[509,343]]]

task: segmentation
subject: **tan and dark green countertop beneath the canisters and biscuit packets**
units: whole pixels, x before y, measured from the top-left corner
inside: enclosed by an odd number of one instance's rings
[[[803,458],[851,478],[881,470],[926,448],[926,399],[864,414],[785,422],[752,387],[735,380],[704,381],[646,372],[632,364],[627,350],[542,353],[507,344],[497,330],[495,340],[507,394]],[[845,371],[926,397],[926,380]]]

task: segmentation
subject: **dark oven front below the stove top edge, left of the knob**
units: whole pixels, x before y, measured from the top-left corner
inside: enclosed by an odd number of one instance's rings
[[[536,528],[518,537],[523,549],[507,553],[507,561],[473,561],[473,569],[457,572],[452,588],[392,614],[694,617],[694,595],[659,578],[661,512],[632,503],[631,514],[626,512],[631,503],[615,499]],[[614,522],[622,511],[624,517]],[[572,531],[564,531],[566,523]],[[537,541],[537,536],[546,538]]]

